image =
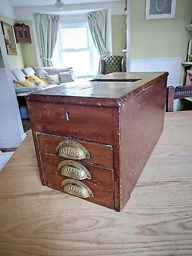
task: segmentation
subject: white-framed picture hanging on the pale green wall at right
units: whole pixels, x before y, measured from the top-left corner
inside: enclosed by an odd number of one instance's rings
[[[146,0],[145,19],[175,18],[176,0]]]

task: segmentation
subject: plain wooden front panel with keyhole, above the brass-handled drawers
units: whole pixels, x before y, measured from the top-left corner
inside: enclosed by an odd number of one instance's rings
[[[114,118],[110,108],[28,102],[28,109],[35,131],[113,143]]]

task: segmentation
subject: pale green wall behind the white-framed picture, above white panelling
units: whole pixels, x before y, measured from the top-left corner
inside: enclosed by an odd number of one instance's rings
[[[131,0],[131,60],[182,56],[192,33],[192,1],[177,0],[175,19],[145,20],[145,0]]]

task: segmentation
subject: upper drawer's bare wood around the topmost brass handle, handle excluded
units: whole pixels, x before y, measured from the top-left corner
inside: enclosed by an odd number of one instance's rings
[[[101,143],[93,143],[89,141],[77,140],[74,138],[67,138],[62,136],[53,136],[49,134],[42,134],[36,132],[38,146],[41,152],[58,155],[56,148],[58,144],[62,141],[76,141],[83,145],[90,154],[90,159],[82,159],[84,163],[95,163],[102,166],[106,166],[113,169],[113,147],[111,145],[104,145]],[[60,157],[61,159],[64,157]]]

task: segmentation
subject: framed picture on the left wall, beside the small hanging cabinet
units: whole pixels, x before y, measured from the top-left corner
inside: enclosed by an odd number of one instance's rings
[[[8,55],[17,55],[17,48],[15,44],[15,36],[12,25],[1,21],[1,27],[4,35],[4,44]]]

